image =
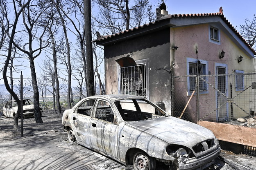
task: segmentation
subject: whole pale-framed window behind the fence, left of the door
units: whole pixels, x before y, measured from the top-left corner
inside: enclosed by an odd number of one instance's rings
[[[198,62],[197,62],[198,61]],[[198,72],[197,72],[197,64],[198,64]],[[191,95],[194,90],[196,90],[196,76],[199,75],[199,92],[200,94],[207,93],[208,85],[205,81],[207,81],[206,76],[208,70],[208,62],[205,60],[197,60],[195,58],[187,58],[187,74],[191,75],[188,77],[188,95]],[[204,81],[204,80],[205,81]]]

